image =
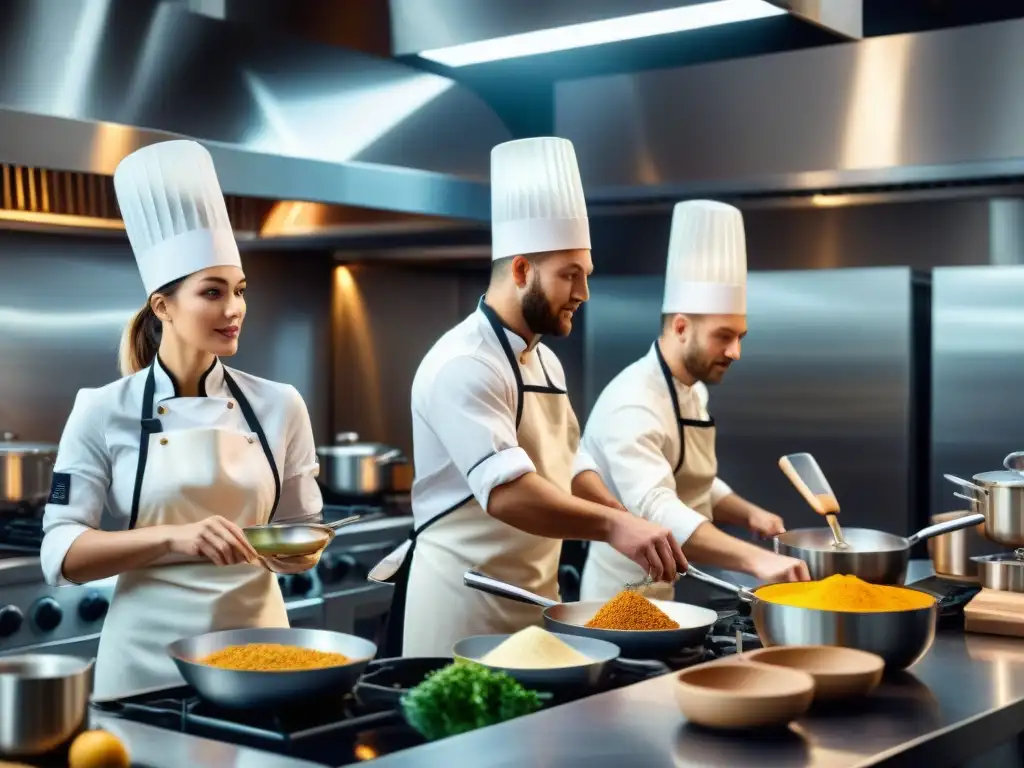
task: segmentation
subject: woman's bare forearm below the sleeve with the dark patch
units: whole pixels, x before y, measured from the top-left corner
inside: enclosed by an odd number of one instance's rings
[[[76,584],[109,579],[152,565],[171,551],[166,525],[132,530],[86,530],[65,555],[65,579]]]

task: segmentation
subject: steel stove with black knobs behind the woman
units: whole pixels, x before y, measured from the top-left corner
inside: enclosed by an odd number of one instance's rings
[[[379,641],[391,588],[367,573],[413,527],[409,497],[333,497],[326,520],[359,514],[338,531],[317,567],[279,577],[293,627],[329,629]],[[39,563],[42,509],[0,507],[0,655],[30,651],[93,657],[117,579],[49,587]]]

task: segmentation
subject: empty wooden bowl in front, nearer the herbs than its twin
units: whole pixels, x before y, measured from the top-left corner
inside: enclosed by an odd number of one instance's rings
[[[707,728],[769,728],[796,720],[814,699],[814,678],[800,670],[745,659],[712,662],[676,677],[676,701]]]

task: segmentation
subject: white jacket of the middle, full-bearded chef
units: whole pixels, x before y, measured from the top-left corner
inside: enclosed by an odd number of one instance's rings
[[[535,342],[535,351],[524,355],[526,342],[503,331],[513,353],[539,380],[547,371],[552,384],[565,388],[565,373],[549,347]],[[472,498],[486,509],[492,490],[536,471],[516,438],[515,373],[480,309],[427,352],[413,379],[412,404],[416,527]],[[597,468],[581,450],[572,476]]]

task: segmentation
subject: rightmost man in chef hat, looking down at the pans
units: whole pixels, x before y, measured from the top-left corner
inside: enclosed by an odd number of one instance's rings
[[[708,385],[722,381],[746,335],[746,246],[732,206],[690,201],[675,207],[669,240],[662,335],[650,351],[604,389],[587,420],[583,445],[622,504],[672,530],[694,563],[762,581],[806,581],[802,560],[777,555],[720,530],[741,525],[764,537],[784,531],[777,515],[741,499],[718,477]],[[613,597],[646,575],[642,565],[600,542],[590,546],[581,599]],[[651,597],[674,599],[669,584]],[[692,579],[679,599],[715,607],[732,595]]]

